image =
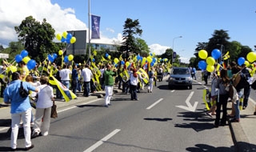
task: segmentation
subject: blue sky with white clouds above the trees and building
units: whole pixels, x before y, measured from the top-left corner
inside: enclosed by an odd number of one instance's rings
[[[0,45],[18,41],[14,26],[30,15],[39,22],[46,18],[55,34],[88,30],[88,1],[0,0]],[[173,48],[182,62],[189,62],[198,42],[208,42],[214,30],[227,30],[230,41],[254,50],[255,10],[255,0],[90,0],[90,14],[101,17],[101,38],[91,42],[122,42],[123,25],[131,18],[138,19],[143,30],[140,38],[150,53]]]

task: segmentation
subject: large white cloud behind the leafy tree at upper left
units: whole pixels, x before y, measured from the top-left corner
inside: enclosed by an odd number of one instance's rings
[[[19,26],[26,17],[33,16],[37,21],[46,22],[54,28],[56,34],[66,30],[86,30],[86,24],[78,20],[73,9],[62,10],[50,0],[8,0],[0,2],[0,44],[8,46],[17,41],[14,26]]]

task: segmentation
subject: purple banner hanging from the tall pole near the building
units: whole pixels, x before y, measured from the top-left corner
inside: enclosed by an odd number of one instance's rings
[[[91,39],[98,39],[99,37],[99,22],[101,17],[91,15]]]

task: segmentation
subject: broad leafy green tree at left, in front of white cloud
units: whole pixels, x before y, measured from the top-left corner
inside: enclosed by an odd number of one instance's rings
[[[28,51],[30,58],[37,62],[43,61],[47,54],[58,51],[58,47],[53,42],[55,30],[46,22],[45,18],[40,23],[32,16],[26,17],[14,29],[18,34],[19,41]]]

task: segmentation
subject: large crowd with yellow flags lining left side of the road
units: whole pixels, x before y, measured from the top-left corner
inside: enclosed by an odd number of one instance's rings
[[[7,66],[2,62],[1,74],[5,74]],[[63,100],[62,91],[49,82],[49,66],[40,66],[37,64],[33,70],[28,70],[26,63],[21,61],[18,62],[17,71],[11,73],[11,79],[3,82],[3,79],[0,78],[2,97],[5,103],[10,104],[12,119],[10,150],[17,148],[18,128],[20,127],[23,127],[24,130],[25,150],[34,148],[31,138],[36,138],[39,135],[47,136],[50,130],[51,106],[55,99]],[[157,80],[161,82],[162,77],[169,70],[163,64],[158,64],[150,69],[122,65],[114,67],[108,63],[98,66],[90,64],[56,66],[53,63],[50,67],[54,69],[51,71],[54,78],[61,82],[62,86],[72,90],[74,94],[82,92],[83,97],[89,97],[90,94],[94,94],[98,90],[105,90],[104,106],[106,107],[111,106],[110,99],[113,96],[114,85],[118,86],[118,89],[122,89],[123,93],[129,92],[131,100],[138,101],[138,93],[144,90],[144,86],[148,85],[147,92],[152,93],[153,86],[157,86]],[[41,70],[39,70],[40,68]],[[10,73],[6,75],[10,76]],[[26,98],[22,98],[18,94],[21,85],[30,93]],[[32,113],[32,106],[36,109],[35,115]]]

